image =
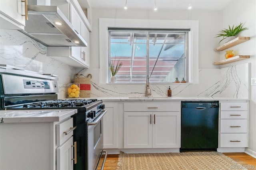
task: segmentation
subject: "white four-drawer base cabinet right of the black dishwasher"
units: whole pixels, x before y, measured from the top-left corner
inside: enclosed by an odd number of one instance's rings
[[[219,147],[248,147],[248,102],[220,101]]]

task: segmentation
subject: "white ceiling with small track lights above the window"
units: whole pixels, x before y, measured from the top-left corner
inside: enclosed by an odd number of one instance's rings
[[[88,0],[91,8],[123,9],[126,0]],[[233,0],[156,0],[158,10],[222,10]],[[246,1],[246,0],[245,0]],[[129,9],[153,9],[154,0],[127,0]]]

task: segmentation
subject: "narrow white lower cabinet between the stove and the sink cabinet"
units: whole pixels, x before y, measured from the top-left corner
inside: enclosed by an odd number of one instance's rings
[[[118,111],[117,104],[105,104],[107,114],[103,117],[103,148],[118,148]]]

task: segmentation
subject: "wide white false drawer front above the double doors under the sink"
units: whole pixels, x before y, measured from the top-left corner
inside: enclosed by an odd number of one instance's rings
[[[124,111],[180,111],[180,104],[159,104],[159,103],[148,103],[148,104],[124,104]]]

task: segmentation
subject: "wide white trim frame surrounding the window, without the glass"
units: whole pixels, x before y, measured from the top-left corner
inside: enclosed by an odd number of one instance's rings
[[[100,84],[108,82],[108,27],[190,29],[188,33],[188,82],[199,83],[198,35],[199,22],[192,20],[139,20],[99,18]],[[170,83],[170,82],[169,82]],[[130,83],[129,83],[130,84]],[[163,82],[164,84],[164,82]]]

